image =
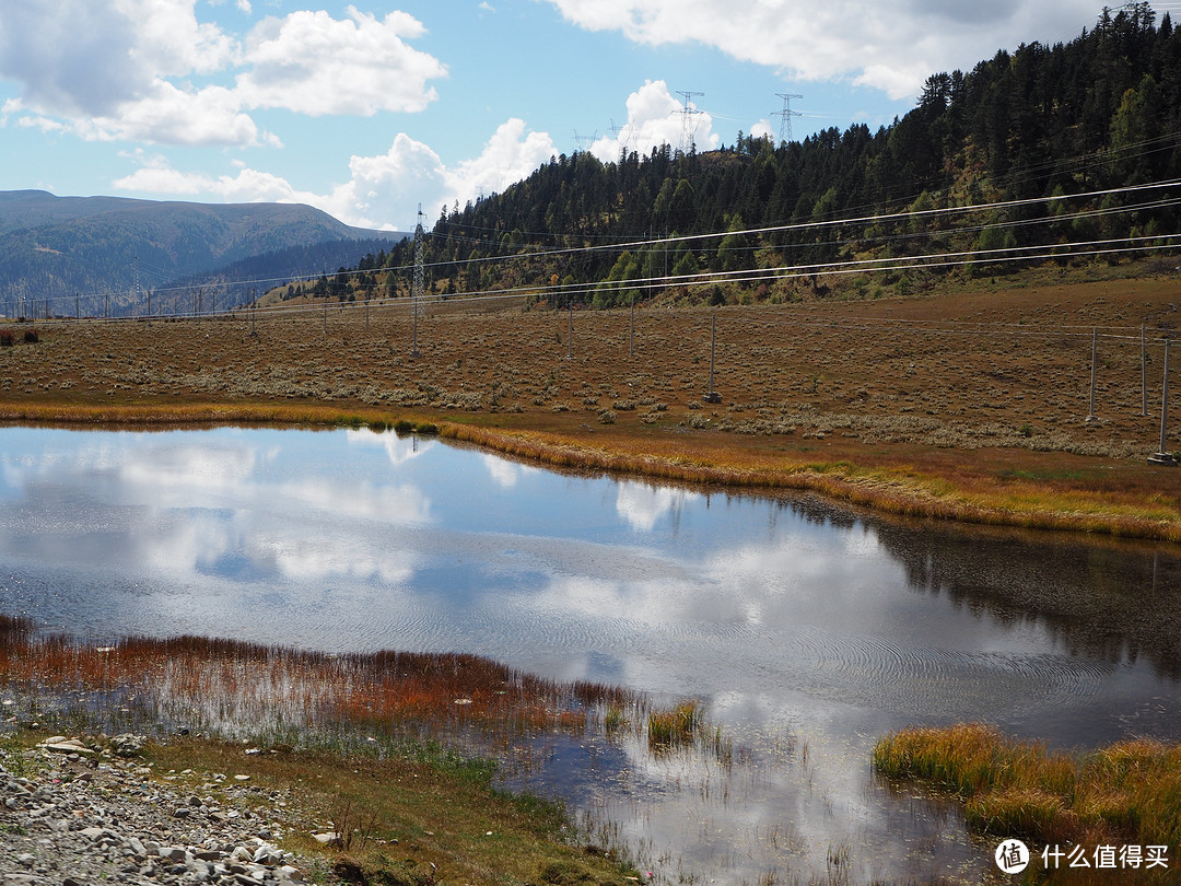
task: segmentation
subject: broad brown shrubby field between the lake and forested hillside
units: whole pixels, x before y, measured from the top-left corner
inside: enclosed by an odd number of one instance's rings
[[[37,344],[12,324],[0,418],[430,422],[559,465],[1181,541],[1181,469],[1146,461],[1159,449],[1161,340],[1179,301],[1170,275],[905,300],[646,305],[634,339],[626,310],[575,311],[572,338],[570,315],[523,300],[436,302],[418,323],[418,357],[405,301],[253,321],[51,321]],[[718,404],[703,399],[715,321]],[[1168,448],[1181,449],[1179,437]]]

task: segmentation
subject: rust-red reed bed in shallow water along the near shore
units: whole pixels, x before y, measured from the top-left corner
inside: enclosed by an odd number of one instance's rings
[[[583,735],[608,708],[642,704],[624,690],[555,683],[471,654],[328,654],[202,637],[96,646],[39,636],[30,621],[6,615],[0,685],[106,729],[130,718],[272,744],[315,735],[446,741],[476,751],[527,748],[553,731]]]

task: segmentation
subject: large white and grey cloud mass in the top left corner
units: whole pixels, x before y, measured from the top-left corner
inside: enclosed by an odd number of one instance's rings
[[[275,138],[249,111],[420,111],[446,76],[406,40],[423,26],[348,7],[268,17],[244,43],[201,22],[196,0],[20,0],[0,7],[0,77],[19,84],[34,125],[93,141],[257,145]],[[249,4],[240,5],[248,9]],[[201,76],[195,85],[189,78]]]

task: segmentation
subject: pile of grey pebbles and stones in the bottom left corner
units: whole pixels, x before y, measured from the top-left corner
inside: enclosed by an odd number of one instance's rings
[[[270,821],[244,803],[234,808],[235,795],[257,788],[214,776],[226,793],[216,801],[183,790],[175,776],[161,783],[132,758],[142,747],[139,736],[117,736],[112,754],[99,755],[54,736],[14,767],[27,778],[0,761],[0,886],[306,884],[312,862],[274,843],[298,822],[278,808]],[[201,788],[198,776],[184,777]]]

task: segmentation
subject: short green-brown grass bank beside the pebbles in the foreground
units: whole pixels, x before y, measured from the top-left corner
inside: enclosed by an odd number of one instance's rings
[[[537,797],[489,787],[490,770],[457,770],[405,757],[377,758],[324,751],[247,756],[243,745],[185,738],[149,743],[145,760],[157,773],[191,770],[250,776],[265,790],[298,787],[306,827],[286,843],[325,866],[355,866],[370,882],[527,884],[568,872],[582,884],[625,884],[635,872],[619,859],[588,852],[562,838],[565,809]],[[325,849],[311,833],[328,825],[347,830],[345,846]]]

